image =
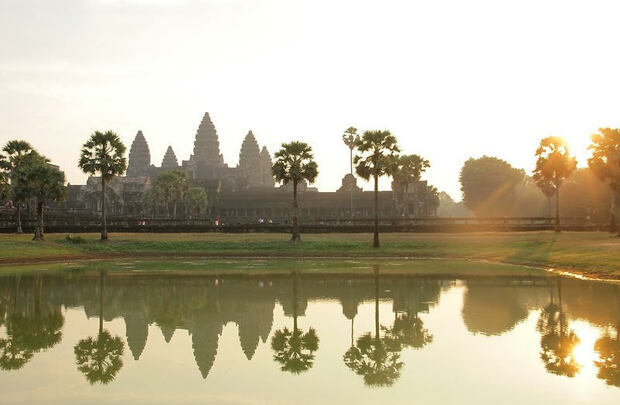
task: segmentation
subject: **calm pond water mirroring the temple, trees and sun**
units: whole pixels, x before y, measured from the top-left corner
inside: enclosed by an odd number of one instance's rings
[[[0,403],[620,403],[618,285],[109,267],[3,271]]]

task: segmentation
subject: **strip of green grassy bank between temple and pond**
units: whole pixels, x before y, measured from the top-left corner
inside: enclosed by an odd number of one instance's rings
[[[483,259],[503,263],[562,268],[620,278],[620,238],[606,233],[552,232],[476,234],[385,234],[382,247],[371,247],[369,234],[308,234],[291,244],[286,234],[97,234],[0,235],[0,264],[114,257],[436,257]]]

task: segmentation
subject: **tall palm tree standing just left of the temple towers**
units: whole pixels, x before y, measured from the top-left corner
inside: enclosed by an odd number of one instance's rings
[[[101,175],[101,240],[108,240],[108,225],[105,210],[105,189],[114,176],[120,176],[127,169],[125,145],[112,131],[95,131],[82,146],[78,166],[84,173]]]

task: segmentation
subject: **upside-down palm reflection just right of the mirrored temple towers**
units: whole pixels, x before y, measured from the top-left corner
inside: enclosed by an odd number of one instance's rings
[[[293,374],[308,371],[314,365],[314,352],[319,348],[319,337],[314,328],[308,332],[297,327],[297,290],[299,273],[294,271],[293,277],[293,330],[288,328],[277,330],[271,339],[271,348],[275,352],[274,361],[280,363],[280,370]]]

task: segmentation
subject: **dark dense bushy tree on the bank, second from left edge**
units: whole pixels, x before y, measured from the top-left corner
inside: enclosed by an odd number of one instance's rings
[[[65,175],[48,160],[30,153],[13,172],[11,185],[20,197],[35,198],[37,201],[37,225],[33,240],[43,240],[43,214],[46,202],[61,201],[65,197]]]

